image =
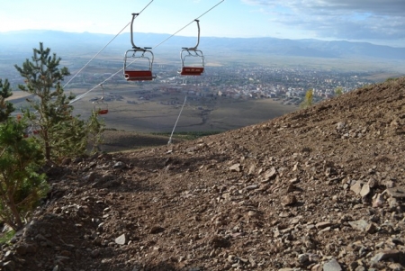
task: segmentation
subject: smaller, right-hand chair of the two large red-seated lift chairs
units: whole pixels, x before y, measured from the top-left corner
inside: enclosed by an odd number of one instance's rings
[[[197,47],[200,44],[200,21],[195,19],[198,28],[198,37],[197,37],[197,44],[194,47],[183,47],[182,51],[180,52],[180,59],[182,60],[182,68],[180,70],[180,75],[182,76],[201,76],[204,72],[204,56],[202,54],[202,50],[198,50]],[[188,61],[185,61],[187,58],[193,57],[201,60],[194,62],[193,64]]]

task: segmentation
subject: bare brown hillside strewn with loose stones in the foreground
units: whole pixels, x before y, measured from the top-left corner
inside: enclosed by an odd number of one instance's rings
[[[3,270],[403,270],[405,77],[48,169]]]

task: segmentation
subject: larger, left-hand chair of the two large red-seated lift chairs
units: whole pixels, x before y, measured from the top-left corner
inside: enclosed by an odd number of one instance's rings
[[[132,21],[130,22],[130,43],[132,44],[132,49],[125,52],[123,74],[127,81],[151,81],[156,78],[152,74],[154,56],[150,50],[151,47],[140,48],[133,42],[133,21],[138,15],[132,14]],[[133,60],[131,61],[131,59]],[[141,66],[141,68],[130,68],[130,64],[135,61],[140,62],[137,67]]]

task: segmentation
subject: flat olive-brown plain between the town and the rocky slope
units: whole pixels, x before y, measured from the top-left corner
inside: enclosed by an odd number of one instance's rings
[[[106,128],[114,130],[168,132],[173,130],[179,118],[175,131],[228,131],[266,122],[297,109],[296,106],[283,105],[272,99],[196,99],[193,96],[186,97],[185,94],[156,93],[156,96],[146,100],[136,91],[115,91],[113,94],[120,95],[121,99],[94,105],[89,101],[92,97],[85,97],[74,104],[75,113],[87,118],[94,106],[107,106],[108,114],[101,117]],[[100,93],[96,95],[101,96]]]

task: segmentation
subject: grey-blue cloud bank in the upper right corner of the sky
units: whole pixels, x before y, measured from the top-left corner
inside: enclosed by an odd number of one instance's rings
[[[404,0],[242,0],[272,23],[311,32],[317,38],[405,39]]]

